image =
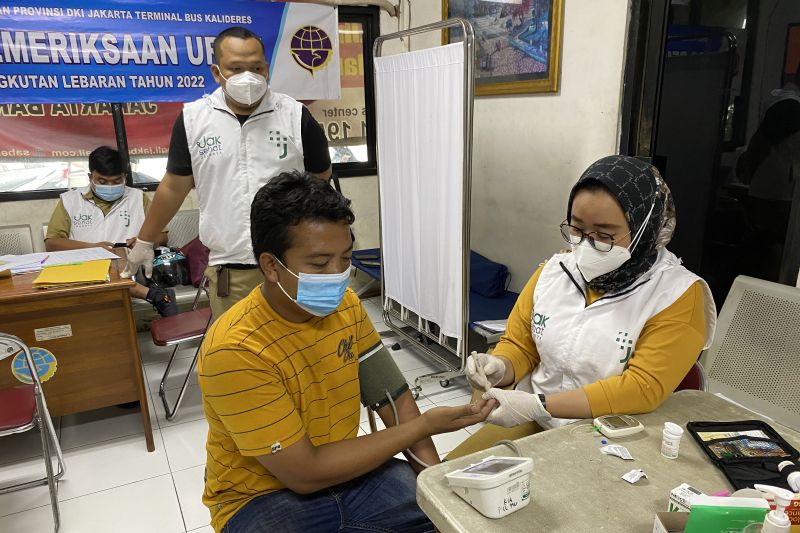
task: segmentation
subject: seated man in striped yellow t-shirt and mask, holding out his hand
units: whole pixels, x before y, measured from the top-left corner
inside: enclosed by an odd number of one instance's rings
[[[495,406],[420,415],[347,288],[349,206],[309,173],[282,173],[255,195],[264,282],[217,318],[198,365],[209,425],[203,502],[218,532],[433,531],[415,499],[422,466],[393,456],[438,463],[430,436]],[[388,429],[358,436],[359,398]]]

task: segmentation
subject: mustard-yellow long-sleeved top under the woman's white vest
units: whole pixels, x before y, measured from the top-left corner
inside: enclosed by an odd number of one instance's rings
[[[520,293],[508,317],[506,333],[492,352],[511,361],[516,381],[539,364],[539,352],[531,334],[531,315],[533,291],[543,268],[544,265],[533,273]],[[586,305],[601,296],[588,290]],[[593,417],[647,413],[672,394],[703,349],[704,302],[703,287],[695,282],[675,303],[645,322],[624,372],[583,387]]]

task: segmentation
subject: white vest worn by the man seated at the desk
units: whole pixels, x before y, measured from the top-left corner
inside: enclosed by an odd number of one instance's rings
[[[70,219],[69,238],[84,242],[125,242],[136,237],[144,223],[144,193],[125,187],[108,214],[83,197],[89,187],[72,189],[61,195]]]

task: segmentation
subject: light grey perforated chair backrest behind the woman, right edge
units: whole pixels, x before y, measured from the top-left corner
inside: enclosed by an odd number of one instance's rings
[[[800,430],[800,289],[737,277],[700,361],[709,392]]]

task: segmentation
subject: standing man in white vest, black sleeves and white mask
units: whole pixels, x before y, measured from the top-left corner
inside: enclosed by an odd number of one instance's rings
[[[209,250],[211,308],[219,317],[263,281],[250,242],[250,204],[273,176],[331,174],[328,143],[308,109],[269,89],[264,44],[228,28],[214,41],[211,73],[220,87],[186,104],[175,121],[167,172],[128,255],[150,275],[153,241],[192,187],[200,204],[200,240]]]

